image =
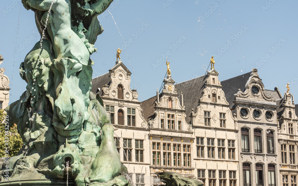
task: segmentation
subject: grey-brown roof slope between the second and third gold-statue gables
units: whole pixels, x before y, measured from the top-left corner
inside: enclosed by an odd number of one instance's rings
[[[177,89],[177,93],[184,95],[183,97],[183,104],[185,105],[185,121],[187,123],[190,122],[190,113],[192,112],[191,109],[196,109],[198,106],[198,102],[202,96],[204,84],[206,81],[207,76],[200,76],[194,79],[190,79],[188,81],[184,81],[175,85]],[[180,103],[181,103],[181,96],[178,96]]]

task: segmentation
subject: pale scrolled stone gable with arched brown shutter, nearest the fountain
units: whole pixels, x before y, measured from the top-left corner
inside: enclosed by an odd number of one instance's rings
[[[104,85],[102,97],[111,99],[125,99],[127,101],[139,102],[136,90],[131,90],[131,72],[122,61],[117,61],[116,65],[109,70],[110,85]]]

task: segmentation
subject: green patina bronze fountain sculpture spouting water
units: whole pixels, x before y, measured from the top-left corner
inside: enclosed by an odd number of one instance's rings
[[[22,0],[35,12],[42,39],[20,66],[27,90],[6,108],[24,146],[3,163],[0,185],[7,181],[7,172],[8,181],[20,185],[24,180],[46,185],[43,180],[52,183],[49,180],[65,179],[66,173],[77,186],[128,185],[121,175],[125,167],[113,126],[102,100],[91,92],[90,55],[103,32],[97,15],[112,1]]]

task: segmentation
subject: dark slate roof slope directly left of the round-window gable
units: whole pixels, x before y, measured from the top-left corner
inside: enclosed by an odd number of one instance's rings
[[[250,77],[251,72],[248,72],[246,74],[242,74],[240,76],[232,77],[230,79],[226,79],[221,82],[221,86],[223,86],[221,89],[224,91],[226,96],[226,101],[228,101],[230,105],[230,109],[234,107],[233,101],[235,100],[235,95],[238,92],[238,89],[240,89],[242,92],[244,92],[245,85]]]

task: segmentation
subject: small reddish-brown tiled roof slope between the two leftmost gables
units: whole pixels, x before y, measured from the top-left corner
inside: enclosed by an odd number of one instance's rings
[[[161,97],[161,94],[159,95],[159,97]],[[153,96],[152,98],[149,98],[141,102],[141,108],[142,108],[141,113],[146,121],[154,119],[155,101],[156,101],[156,96]]]

